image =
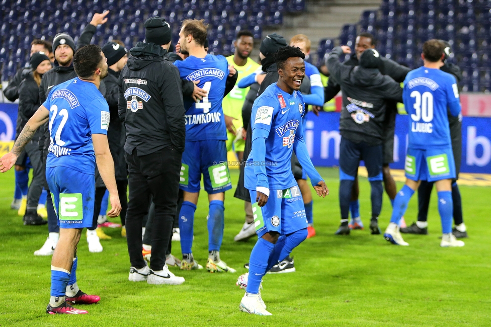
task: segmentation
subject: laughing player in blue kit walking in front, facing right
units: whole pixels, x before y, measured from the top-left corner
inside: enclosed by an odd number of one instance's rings
[[[259,238],[251,252],[249,273],[241,275],[237,283],[246,287],[240,302],[244,312],[271,315],[259,294],[261,279],[307,237],[302,195],[291,171],[292,151],[317,195],[325,197],[329,193],[303,140],[305,103],[298,91],[305,76],[304,58],[299,48],[278,49],[278,82],[256,99],[252,109],[252,149],[244,185],[250,190],[251,199],[256,200],[253,213]]]

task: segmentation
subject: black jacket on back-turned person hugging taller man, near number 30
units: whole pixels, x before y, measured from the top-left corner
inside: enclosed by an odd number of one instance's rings
[[[402,89],[377,68],[347,66],[339,61],[341,47],[331,51],[328,69],[343,90],[340,133],[352,142],[379,145],[384,140],[386,101],[402,102]]]

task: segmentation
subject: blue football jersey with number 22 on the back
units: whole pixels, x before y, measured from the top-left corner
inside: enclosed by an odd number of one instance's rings
[[[92,134],[107,135],[109,126],[109,107],[101,92],[75,77],[55,86],[43,106],[49,110],[46,167],[64,166],[94,175]]]

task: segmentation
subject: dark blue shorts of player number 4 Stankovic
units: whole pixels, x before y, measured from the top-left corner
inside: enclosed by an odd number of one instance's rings
[[[208,194],[232,188],[225,140],[187,141],[184,148],[179,187],[186,192],[200,191],[201,174]]]

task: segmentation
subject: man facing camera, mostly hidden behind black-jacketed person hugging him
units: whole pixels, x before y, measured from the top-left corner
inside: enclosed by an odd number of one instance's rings
[[[355,40],[355,52],[350,56],[350,59],[345,61],[343,64],[347,66],[357,66],[360,56],[366,49],[375,48],[375,42],[373,35],[370,33],[360,33],[357,35]],[[378,69],[383,75],[389,75],[396,82],[402,83],[404,78],[411,69],[401,66],[396,62],[387,59],[385,57],[381,58],[379,61]],[[328,85],[324,88],[324,101],[328,102],[333,99],[341,90],[340,85],[337,83],[336,78],[330,75],[328,80]],[[385,136],[384,143],[382,147],[383,152],[383,165],[382,165],[382,175],[385,187],[385,192],[391,200],[395,198],[397,194],[397,189],[395,186],[395,181],[390,175],[389,163],[394,162],[394,130],[395,130],[395,115],[397,114],[397,106],[395,101],[387,101],[387,114],[385,117]],[[355,183],[353,184],[351,200],[358,202],[358,176],[355,177]],[[358,211],[358,210],[356,210]],[[359,217],[352,217],[352,219]],[[359,222],[361,223],[361,221]],[[354,225],[356,228],[356,224]],[[358,227],[360,227],[358,225]],[[342,234],[349,234],[349,229],[340,230]]]

